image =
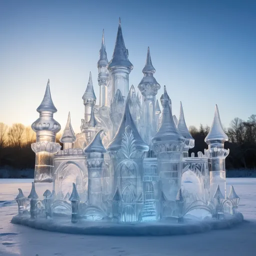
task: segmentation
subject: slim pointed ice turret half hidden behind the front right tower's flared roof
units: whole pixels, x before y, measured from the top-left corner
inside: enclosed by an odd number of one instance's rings
[[[188,157],[189,148],[194,147],[194,138],[191,136],[191,134],[188,131],[188,128],[186,126],[181,101],[180,101],[180,112],[179,112],[179,118],[178,118],[178,123],[177,123],[177,129],[181,133],[181,135],[185,138],[185,146],[184,146],[183,156]]]

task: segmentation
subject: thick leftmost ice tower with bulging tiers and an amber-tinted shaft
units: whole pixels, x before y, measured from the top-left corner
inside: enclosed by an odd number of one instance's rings
[[[53,119],[53,113],[57,111],[51,95],[49,80],[41,104],[36,109],[39,118],[31,125],[36,132],[36,142],[31,144],[35,152],[34,182],[53,182],[53,158],[54,153],[60,150],[60,144],[55,142],[56,133],[60,130],[60,124]],[[49,187],[51,190],[52,187]]]

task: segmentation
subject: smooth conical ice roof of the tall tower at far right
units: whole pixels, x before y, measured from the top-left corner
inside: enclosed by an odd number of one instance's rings
[[[208,135],[205,137],[204,141],[207,144],[212,143],[213,141],[220,140],[222,143],[228,140],[227,135],[225,134],[220,117],[218,112],[218,106],[215,105],[214,118],[210,127]]]

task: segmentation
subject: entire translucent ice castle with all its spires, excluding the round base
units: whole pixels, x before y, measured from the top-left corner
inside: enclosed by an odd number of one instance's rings
[[[224,142],[228,137],[217,105],[205,138],[208,149],[189,157],[194,139],[182,104],[177,119],[166,87],[160,89],[154,77],[149,47],[137,91],[129,85],[133,65],[128,59],[120,20],[109,62],[103,31],[97,68],[99,105],[90,72],[82,95],[81,132],[74,133],[68,113],[60,138],[61,150],[55,142],[60,130],[53,119],[57,109],[47,83],[37,108],[39,118],[32,124],[36,142],[31,145],[35,152],[34,183],[28,196],[31,217],[37,216],[38,207],[44,209],[46,217],[71,215],[72,222],[79,218],[180,222],[188,215],[222,218],[227,212],[235,214],[239,197],[232,186],[226,196],[225,157],[229,150],[224,149]],[[159,90],[163,92],[161,108],[155,100]],[[47,182],[49,189],[38,206],[35,189],[41,182]],[[26,199],[21,190],[15,199],[22,214]]]

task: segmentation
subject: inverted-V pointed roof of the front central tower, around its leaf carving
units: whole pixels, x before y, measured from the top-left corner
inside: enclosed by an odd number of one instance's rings
[[[148,149],[149,149],[148,145],[140,137],[138,130],[135,126],[135,123],[131,117],[128,101],[129,101],[129,99],[126,100],[124,113],[122,115],[121,123],[118,127],[118,130],[116,131],[116,134],[113,137],[112,141],[107,146],[108,151],[118,151],[119,150],[119,148],[121,146],[122,139],[123,139],[123,134],[124,134],[127,126],[129,126],[130,130],[133,133],[134,144],[135,144],[136,150],[148,151]]]

